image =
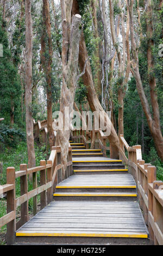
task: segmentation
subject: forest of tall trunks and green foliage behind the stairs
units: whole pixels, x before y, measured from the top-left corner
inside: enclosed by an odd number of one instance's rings
[[[73,109],[74,102],[80,113],[111,111],[112,156],[117,157],[118,138],[124,135],[129,145],[141,145],[146,162],[162,170],[162,1],[70,1],[67,32],[64,2],[0,0],[1,153],[27,141],[30,149],[33,144],[30,156],[28,147],[28,164],[34,166],[34,138],[28,136],[33,119],[48,120],[52,147],[52,114],[65,106]],[[74,34],[72,22],[79,28]],[[64,105],[68,93],[72,104]],[[55,144],[62,136],[58,133]]]

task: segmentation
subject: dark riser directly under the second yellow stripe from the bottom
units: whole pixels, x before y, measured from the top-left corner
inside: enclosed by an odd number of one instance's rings
[[[137,201],[137,197],[80,197],[80,196],[68,196],[68,197],[54,197],[55,201]]]

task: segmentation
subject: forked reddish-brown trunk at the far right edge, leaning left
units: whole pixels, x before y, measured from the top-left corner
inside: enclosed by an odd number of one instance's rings
[[[133,74],[136,80],[137,92],[139,93],[142,108],[147,118],[148,127],[153,137],[156,151],[161,161],[163,161],[163,138],[162,138],[161,128],[160,128],[160,114],[159,114],[159,106],[158,106],[158,96],[156,93],[156,81],[154,76],[154,59],[152,54],[152,47],[153,47],[152,1],[151,0],[147,1],[147,9],[146,9],[147,11],[146,24],[147,24],[147,38],[148,38],[148,48],[147,48],[148,81],[149,81],[149,89],[151,94],[152,113],[149,108],[149,103],[142,86],[141,76],[139,72],[139,58],[136,50],[136,43],[135,43],[135,37],[134,37],[134,14],[133,14],[134,0],[128,0],[128,5],[129,5],[129,15],[130,15],[131,51],[133,54],[132,67],[133,67]]]

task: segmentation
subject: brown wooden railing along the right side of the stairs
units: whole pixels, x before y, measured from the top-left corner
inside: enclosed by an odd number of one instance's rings
[[[120,137],[120,155],[136,181],[139,204],[151,242],[163,245],[163,182],[156,180],[156,167],[142,160],[141,145],[129,147],[123,135]]]

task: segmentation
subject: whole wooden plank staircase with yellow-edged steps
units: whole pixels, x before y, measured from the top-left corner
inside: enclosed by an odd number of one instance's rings
[[[70,144],[74,175],[57,185],[53,202],[17,230],[17,243],[148,244],[136,183],[122,161]]]

